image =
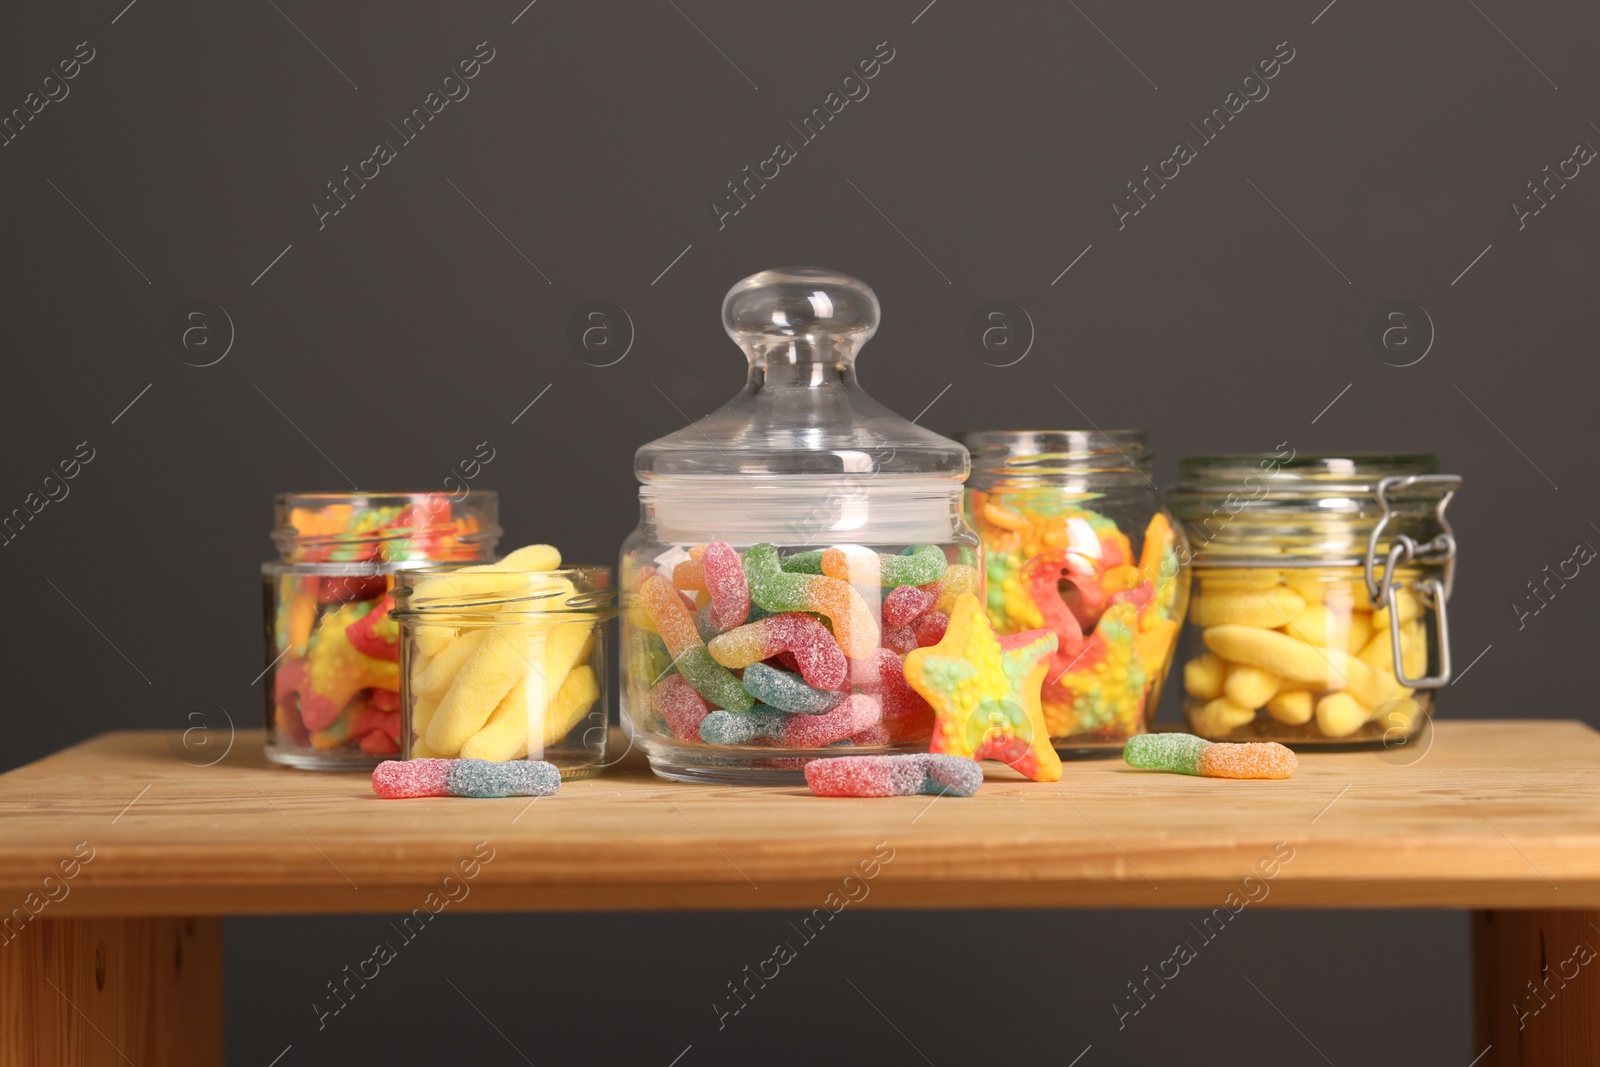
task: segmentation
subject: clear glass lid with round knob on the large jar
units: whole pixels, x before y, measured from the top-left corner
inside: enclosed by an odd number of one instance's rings
[[[722,302],[749,378],[733,400],[638,450],[638,480],[920,475],[960,485],[966,448],[894,414],[856,382],[878,298],[821,267],[763,270]]]

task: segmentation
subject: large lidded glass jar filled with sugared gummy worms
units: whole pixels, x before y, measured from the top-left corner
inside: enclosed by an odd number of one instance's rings
[[[926,752],[904,678],[982,593],[966,450],[856,382],[877,296],[818,267],[723,299],[744,390],[638,450],[622,545],[622,712],[656,774],[794,782],[818,757]],[[938,387],[928,382],[928,398]]]

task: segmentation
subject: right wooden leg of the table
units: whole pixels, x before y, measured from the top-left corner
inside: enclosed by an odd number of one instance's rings
[[[1478,1067],[1600,1065],[1600,912],[1474,912]]]

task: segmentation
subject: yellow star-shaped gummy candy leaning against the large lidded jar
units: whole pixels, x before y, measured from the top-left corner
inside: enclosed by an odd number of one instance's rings
[[[1000,760],[1035,782],[1059,779],[1038,704],[1053,651],[1054,632],[997,637],[978,597],[957,597],[944,640],[906,657],[906,681],[936,717],[928,750]]]

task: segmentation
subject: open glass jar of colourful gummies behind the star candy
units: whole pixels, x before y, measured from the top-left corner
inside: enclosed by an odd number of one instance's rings
[[[1058,750],[1122,749],[1155,717],[1189,595],[1187,547],[1144,430],[982,430],[966,520],[989,621],[1058,645],[1040,691]]]

